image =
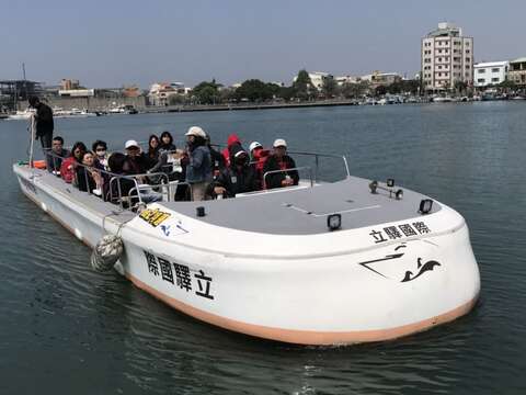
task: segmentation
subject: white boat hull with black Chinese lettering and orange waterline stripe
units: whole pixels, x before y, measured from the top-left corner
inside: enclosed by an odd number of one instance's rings
[[[14,171],[22,191],[87,245],[117,232],[117,219],[103,224],[100,213],[31,171]],[[117,271],[174,308],[229,330],[300,345],[389,340],[467,314],[480,292],[469,232],[453,210],[426,222],[451,224],[444,232],[376,244],[371,229],[354,229],[321,240],[334,242],[334,253],[295,255],[268,250],[268,235],[219,227],[196,247],[203,224],[164,211],[162,225],[136,216],[122,227]],[[282,236],[278,244],[308,250],[316,237]],[[208,248],[214,238],[233,238],[254,253]]]

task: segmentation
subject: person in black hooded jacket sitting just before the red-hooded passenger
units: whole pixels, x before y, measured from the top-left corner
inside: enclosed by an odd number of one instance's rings
[[[238,193],[258,191],[260,184],[255,168],[250,166],[249,154],[242,149],[236,151],[232,165],[225,168],[211,185],[213,196],[236,198]]]

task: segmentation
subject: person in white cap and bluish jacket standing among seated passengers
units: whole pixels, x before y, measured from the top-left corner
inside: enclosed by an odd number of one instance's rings
[[[192,126],[185,134],[188,150],[186,182],[191,184],[192,200],[205,200],[206,187],[213,180],[210,151],[206,146],[206,133]]]

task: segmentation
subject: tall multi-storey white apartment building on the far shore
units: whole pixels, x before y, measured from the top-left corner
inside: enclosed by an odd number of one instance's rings
[[[471,86],[473,38],[462,36],[462,30],[451,23],[438,23],[422,38],[421,75],[426,91],[453,89],[457,81]]]

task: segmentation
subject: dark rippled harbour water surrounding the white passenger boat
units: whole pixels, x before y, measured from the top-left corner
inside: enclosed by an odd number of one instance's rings
[[[67,144],[102,137],[122,147],[164,129],[182,142],[193,124],[217,143],[235,132],[343,153],[353,174],[392,177],[455,207],[481,270],[477,308],[424,334],[339,348],[198,323],[90,269],[89,248],[19,191],[11,163],[26,157],[25,123],[3,121],[0,394],[525,393],[526,103],[115,115],[56,128]]]

